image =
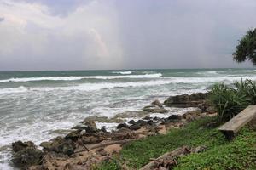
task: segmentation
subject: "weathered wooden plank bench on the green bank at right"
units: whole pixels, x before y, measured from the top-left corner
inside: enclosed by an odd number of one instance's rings
[[[244,127],[248,122],[251,122],[254,117],[256,117],[256,105],[249,105],[229,122],[226,122],[223,126],[219,127],[218,130],[224,133],[227,139],[233,139],[241,127]]]

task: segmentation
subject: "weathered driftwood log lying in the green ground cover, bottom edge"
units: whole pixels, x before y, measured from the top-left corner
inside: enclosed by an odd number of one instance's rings
[[[172,150],[171,152],[167,152],[166,154],[158,157],[157,159],[154,159],[154,161],[150,161],[147,165],[144,167],[140,168],[140,170],[153,170],[157,167],[157,161],[158,160],[169,160],[169,161],[174,161],[176,163],[175,158],[177,156],[183,156],[189,154],[189,147],[188,146],[183,146],[181,148],[177,148],[176,150]]]

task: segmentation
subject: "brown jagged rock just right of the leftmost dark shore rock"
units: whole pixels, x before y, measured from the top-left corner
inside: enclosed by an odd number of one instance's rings
[[[57,153],[62,153],[65,155],[72,155],[75,150],[75,144],[71,139],[64,139],[62,137],[57,137],[50,140],[49,142],[43,142],[40,144],[43,150],[55,151]]]

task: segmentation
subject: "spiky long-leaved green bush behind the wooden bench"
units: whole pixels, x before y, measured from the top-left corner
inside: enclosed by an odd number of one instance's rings
[[[253,82],[255,85],[255,82]],[[210,102],[217,109],[218,116],[225,122],[236,116],[240,111],[245,109],[253,102],[254,98],[252,82],[236,82],[236,88],[230,88],[224,83],[215,84],[210,93]],[[250,86],[249,86],[250,85]],[[248,92],[248,88],[250,91]]]

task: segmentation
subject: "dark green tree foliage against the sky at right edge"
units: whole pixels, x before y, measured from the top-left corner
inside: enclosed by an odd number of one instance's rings
[[[256,28],[254,30],[248,30],[247,34],[241,38],[239,44],[236,46],[233,59],[238,63],[250,60],[253,65],[256,65]]]

